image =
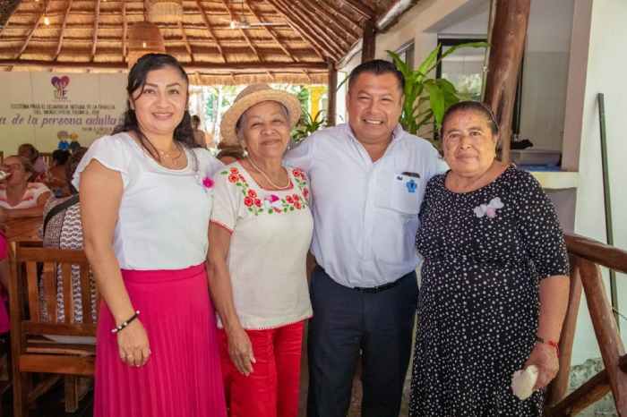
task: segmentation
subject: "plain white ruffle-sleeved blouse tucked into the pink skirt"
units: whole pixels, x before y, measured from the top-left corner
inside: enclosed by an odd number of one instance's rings
[[[206,259],[213,189],[205,179],[223,165],[206,149],[185,152],[184,169],[167,169],[127,133],[117,133],[94,141],[82,157],[73,177],[77,189],[91,159],[122,174],[113,243],[120,268],[182,269]]]

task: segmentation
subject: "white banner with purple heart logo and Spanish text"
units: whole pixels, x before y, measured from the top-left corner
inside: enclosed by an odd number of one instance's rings
[[[0,72],[0,150],[32,143],[41,152],[60,140],[83,146],[111,132],[126,106],[126,74]]]

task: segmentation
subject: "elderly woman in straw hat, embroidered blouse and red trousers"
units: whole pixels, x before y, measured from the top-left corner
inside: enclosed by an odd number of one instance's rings
[[[305,174],[282,165],[298,100],[256,84],[221,123],[247,157],[222,170],[210,219],[210,287],[219,312],[231,416],[296,417],[305,319],[305,257],[313,231]]]

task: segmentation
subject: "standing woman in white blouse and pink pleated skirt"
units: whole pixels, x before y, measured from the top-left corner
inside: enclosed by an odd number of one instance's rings
[[[221,164],[194,144],[187,88],[175,58],[144,55],[128,76],[124,123],[74,174],[103,300],[95,417],[226,415],[205,271]]]

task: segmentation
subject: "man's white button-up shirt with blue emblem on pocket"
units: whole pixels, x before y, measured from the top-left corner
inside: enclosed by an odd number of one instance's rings
[[[338,284],[373,287],[417,268],[418,212],[427,181],[446,169],[426,140],[399,126],[373,162],[348,124],[315,132],[286,155],[313,196],[312,251]]]

